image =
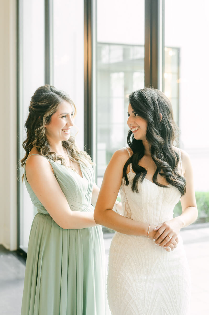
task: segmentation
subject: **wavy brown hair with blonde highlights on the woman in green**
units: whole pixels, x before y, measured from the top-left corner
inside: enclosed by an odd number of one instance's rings
[[[35,147],[42,156],[52,161],[60,160],[61,164],[65,165],[63,157],[57,156],[55,152],[51,152],[44,128],[47,123],[50,123],[52,115],[58,110],[59,104],[64,100],[74,107],[76,114],[74,102],[65,92],[57,90],[52,85],[45,84],[39,87],[31,97],[29,115],[25,123],[27,136],[23,142],[26,154],[21,160],[21,166],[25,165],[27,157],[33,147]],[[88,163],[93,164],[91,157],[85,151],[78,149],[74,137],[70,136],[68,141],[62,141],[62,145],[72,161],[76,163],[81,162],[86,166]],[[22,178],[24,178],[24,175]]]

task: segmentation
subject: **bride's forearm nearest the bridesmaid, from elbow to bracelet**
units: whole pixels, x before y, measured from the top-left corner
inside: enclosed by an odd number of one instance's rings
[[[128,235],[147,236],[149,228],[149,224],[125,218],[112,209],[106,209],[100,212],[99,215],[96,211],[94,219],[98,224]]]

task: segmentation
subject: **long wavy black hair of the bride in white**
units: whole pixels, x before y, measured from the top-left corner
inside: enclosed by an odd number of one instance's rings
[[[170,101],[161,91],[149,87],[131,93],[129,102],[133,110],[147,121],[146,140],[150,145],[151,157],[157,166],[152,178],[153,182],[158,186],[166,187],[157,181],[159,173],[169,184],[178,188],[183,196],[186,191],[186,180],[177,170],[179,154],[173,150],[173,141],[178,129],[173,119]],[[128,133],[127,143],[133,155],[124,165],[123,177],[128,185],[127,167],[132,163],[133,171],[136,173],[132,181],[132,190],[138,192],[138,181],[142,182],[147,173],[146,169],[139,165],[140,159],[144,156],[144,146],[142,140],[134,138],[131,130]]]

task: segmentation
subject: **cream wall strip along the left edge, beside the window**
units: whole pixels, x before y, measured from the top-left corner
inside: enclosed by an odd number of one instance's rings
[[[0,244],[17,249],[16,0],[0,0]]]

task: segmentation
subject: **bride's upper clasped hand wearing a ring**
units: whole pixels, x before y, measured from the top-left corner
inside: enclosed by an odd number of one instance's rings
[[[154,231],[157,232],[154,235],[153,240],[160,246],[165,247],[166,245],[166,247],[168,247],[176,241],[176,237],[179,234],[181,227],[182,221],[180,221],[178,217],[166,221],[154,229]]]

